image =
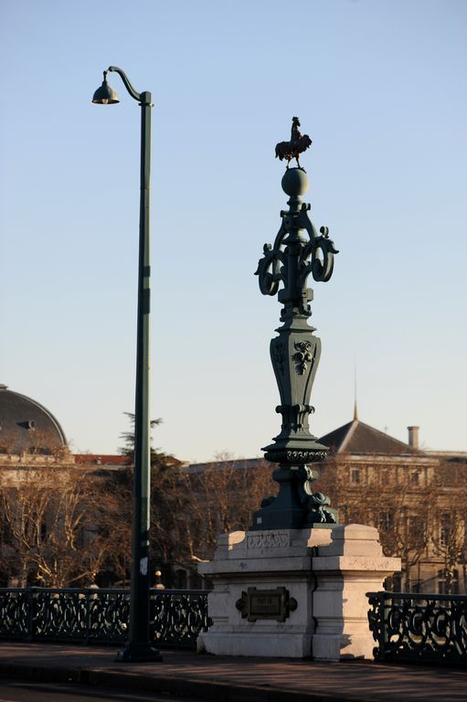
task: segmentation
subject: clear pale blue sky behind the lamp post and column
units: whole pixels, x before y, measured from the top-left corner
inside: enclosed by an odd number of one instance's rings
[[[279,433],[281,306],[262,247],[298,115],[305,200],[339,254],[310,282],[317,436],[360,420],[467,451],[467,3],[3,0],[0,382],[74,452],[112,453],[134,405],[140,109],[153,93],[151,416],[191,462]]]

